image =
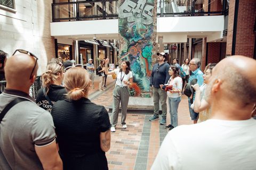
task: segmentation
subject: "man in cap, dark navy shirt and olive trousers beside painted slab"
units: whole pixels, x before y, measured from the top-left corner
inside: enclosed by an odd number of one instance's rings
[[[150,117],[149,121],[159,120],[159,99],[162,105],[162,121],[160,124],[166,123],[167,115],[167,105],[166,98],[167,93],[165,91],[164,84],[167,84],[170,79],[169,68],[170,65],[165,62],[166,55],[164,52],[157,53],[158,63],[153,66],[150,84],[149,86],[153,88],[153,101],[154,101],[154,116]]]

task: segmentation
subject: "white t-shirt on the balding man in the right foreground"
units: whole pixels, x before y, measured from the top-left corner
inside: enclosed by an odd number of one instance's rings
[[[256,120],[207,120],[165,137],[151,170],[256,169]]]

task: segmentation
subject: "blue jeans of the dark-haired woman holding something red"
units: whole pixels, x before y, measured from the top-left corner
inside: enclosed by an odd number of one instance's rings
[[[173,127],[178,126],[178,107],[179,107],[180,100],[181,100],[181,97],[177,97],[177,98],[168,97],[171,125],[173,125]]]

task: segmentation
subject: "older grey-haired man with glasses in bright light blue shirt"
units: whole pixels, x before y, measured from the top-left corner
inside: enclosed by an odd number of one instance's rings
[[[189,70],[192,71],[190,78],[188,80],[188,82],[190,83],[193,79],[197,79],[197,84],[199,86],[202,86],[203,82],[204,82],[204,78],[203,75],[204,73],[200,70],[200,65],[201,65],[201,61],[199,60],[199,58],[193,58],[190,63],[188,64],[189,66]],[[195,93],[196,95],[196,93]],[[195,100],[195,95],[194,95],[194,100]],[[197,117],[199,113],[196,113],[194,111],[194,109],[191,109],[190,106],[190,98],[188,98],[188,107],[189,107],[189,112],[190,112],[190,117],[191,120],[194,121],[194,124],[197,123]]]

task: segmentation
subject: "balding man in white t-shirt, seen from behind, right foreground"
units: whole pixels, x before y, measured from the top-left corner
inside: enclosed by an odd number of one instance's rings
[[[170,131],[151,170],[246,169],[256,167],[256,61],[244,56],[221,60],[205,91],[211,118]]]

